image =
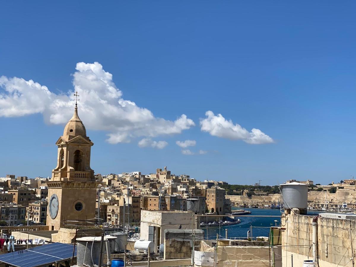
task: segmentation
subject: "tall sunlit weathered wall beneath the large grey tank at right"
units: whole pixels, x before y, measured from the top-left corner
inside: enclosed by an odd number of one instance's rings
[[[302,266],[304,260],[313,259],[313,216],[288,215],[282,218],[283,267]],[[318,218],[317,258],[319,266],[352,266],[352,249],[356,248],[356,221]],[[351,233],[351,236],[350,236]],[[351,245],[352,241],[352,245]],[[309,257],[309,258],[308,258]]]

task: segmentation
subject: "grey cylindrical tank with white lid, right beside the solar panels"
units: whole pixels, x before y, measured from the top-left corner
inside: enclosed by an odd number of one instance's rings
[[[104,238],[104,242],[108,239]],[[97,237],[80,237],[77,241],[77,265],[78,266],[94,266],[99,265],[101,236]],[[103,244],[103,253],[101,254],[101,262],[103,262],[104,254],[106,253],[105,244]]]

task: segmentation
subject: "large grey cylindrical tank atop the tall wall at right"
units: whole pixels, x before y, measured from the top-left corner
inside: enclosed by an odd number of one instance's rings
[[[281,184],[280,186],[285,209],[307,209],[308,185],[293,182]]]

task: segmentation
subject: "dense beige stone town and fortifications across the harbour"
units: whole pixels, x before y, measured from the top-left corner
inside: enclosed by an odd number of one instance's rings
[[[125,214],[131,218],[125,224],[140,225],[141,210],[187,211],[187,199],[201,201],[201,214],[231,214],[231,206],[241,208],[276,208],[283,201],[281,194],[269,194],[269,188],[260,185],[244,185],[228,195],[229,185],[223,181],[200,182],[189,175],[175,175],[167,167],[157,168],[155,173],[124,172],[121,174],[95,174],[99,182],[96,189],[95,218],[106,226],[122,226]],[[0,177],[0,214],[2,226],[46,225],[48,185],[51,178],[7,174]],[[344,179],[340,183],[314,185],[313,181],[287,180],[286,183],[307,184],[309,210],[356,210],[356,179]],[[214,197],[215,196],[215,197]],[[278,206],[280,207],[280,206]],[[100,211],[100,213],[98,213]]]

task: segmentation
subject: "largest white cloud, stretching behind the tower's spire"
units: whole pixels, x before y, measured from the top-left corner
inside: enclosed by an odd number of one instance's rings
[[[0,77],[0,116],[42,113],[50,124],[65,124],[73,115],[73,93],[78,91],[78,113],[87,129],[109,132],[109,143],[131,138],[179,134],[195,126],[182,114],[176,120],[155,117],[146,108],[124,100],[122,91],[98,62],[79,62],[73,74],[73,90],[55,94],[46,86],[22,78]]]

